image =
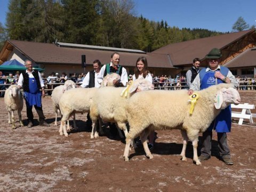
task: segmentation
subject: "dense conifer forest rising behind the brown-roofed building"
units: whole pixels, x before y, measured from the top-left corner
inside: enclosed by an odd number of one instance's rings
[[[139,49],[219,35],[217,31],[170,27],[138,16],[132,0],[10,0],[0,40],[17,39]],[[1,23],[0,23],[1,24]],[[170,26],[169,26],[170,25]]]

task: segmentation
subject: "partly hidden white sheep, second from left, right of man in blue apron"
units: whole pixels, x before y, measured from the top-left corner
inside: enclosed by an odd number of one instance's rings
[[[52,91],[52,105],[53,105],[53,109],[55,111],[54,126],[57,126],[57,116],[58,116],[58,110],[60,110],[59,102],[60,102],[61,95],[65,91],[74,89],[75,87],[76,87],[76,84],[73,81],[67,80],[64,85],[59,85],[59,86],[55,87],[54,90]],[[74,127],[76,129],[75,116],[74,116]],[[68,122],[67,129],[69,130],[69,122]]]

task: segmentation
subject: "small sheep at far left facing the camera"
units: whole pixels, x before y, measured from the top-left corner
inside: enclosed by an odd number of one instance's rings
[[[11,85],[6,91],[4,95],[4,103],[5,107],[8,111],[8,124],[12,123],[12,129],[15,129],[14,122],[14,110],[18,111],[20,125],[23,125],[21,119],[21,111],[23,109],[23,94],[20,92],[20,89],[17,85]],[[12,113],[12,122],[11,122],[11,113]]]

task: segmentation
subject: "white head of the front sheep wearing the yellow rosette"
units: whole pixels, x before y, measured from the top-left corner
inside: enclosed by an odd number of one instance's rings
[[[218,91],[214,102],[216,109],[225,109],[232,103],[238,105],[241,102],[238,91],[231,86],[231,84],[217,85]]]

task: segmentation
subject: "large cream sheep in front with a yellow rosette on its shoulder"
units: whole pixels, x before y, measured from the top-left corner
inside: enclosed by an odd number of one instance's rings
[[[131,139],[137,135],[140,135],[146,156],[153,158],[146,142],[149,132],[152,130],[180,129],[183,135],[182,161],[186,161],[186,145],[190,139],[194,149],[193,161],[200,165],[201,162],[197,157],[198,133],[206,131],[221,109],[226,108],[231,103],[237,105],[241,99],[237,90],[233,89],[230,84],[214,85],[196,93],[199,98],[191,115],[188,112],[191,104],[188,102],[189,96],[186,90],[147,91],[131,97],[127,105],[130,131],[126,137],[125,161],[129,161]],[[222,95],[223,98],[219,106],[220,109],[214,107],[216,94],[217,96]],[[159,109],[161,109],[161,113],[159,113]]]

